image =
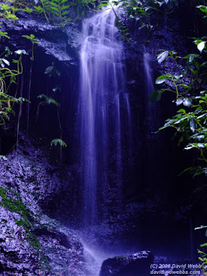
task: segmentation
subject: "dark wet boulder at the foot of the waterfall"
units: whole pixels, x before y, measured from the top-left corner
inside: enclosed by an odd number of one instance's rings
[[[99,276],[141,276],[148,275],[154,257],[150,251],[106,259]]]

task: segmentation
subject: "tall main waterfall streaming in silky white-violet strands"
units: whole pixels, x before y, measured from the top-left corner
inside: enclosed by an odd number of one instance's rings
[[[109,8],[83,21],[77,132],[86,225],[97,221],[97,194],[109,166],[121,187],[121,121],[130,121],[130,99],[124,101],[123,45],[115,21]]]

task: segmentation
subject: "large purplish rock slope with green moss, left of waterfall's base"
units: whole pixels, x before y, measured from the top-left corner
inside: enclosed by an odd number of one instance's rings
[[[27,143],[0,160],[0,276],[84,276],[77,234],[43,215],[61,180],[43,152]]]

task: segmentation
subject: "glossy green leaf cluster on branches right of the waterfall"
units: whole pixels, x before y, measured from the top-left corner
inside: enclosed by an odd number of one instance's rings
[[[206,51],[206,50],[204,50]],[[183,105],[177,111],[177,115],[166,120],[166,124],[159,128],[172,127],[181,134],[179,144],[182,141],[188,141],[185,150],[196,148],[201,155],[200,160],[207,162],[207,91],[201,90],[206,79],[206,63],[204,56],[200,54],[189,54],[186,57],[179,57],[177,52],[163,50],[158,55],[159,63],[172,59],[177,66],[179,74],[166,73],[157,77],[155,83],[165,86],[161,90],[156,90],[150,98],[160,99],[163,92],[173,92],[176,95],[175,103],[177,106]],[[182,65],[177,60],[184,61]],[[187,108],[187,109],[186,109]],[[198,169],[198,171],[197,171]],[[204,166],[203,172],[206,174]],[[195,168],[195,175],[201,173],[201,169]]]

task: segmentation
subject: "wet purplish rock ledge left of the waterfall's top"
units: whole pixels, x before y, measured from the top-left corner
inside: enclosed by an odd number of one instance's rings
[[[58,61],[66,61],[68,64],[77,63],[77,49],[81,41],[81,32],[78,24],[70,23],[66,28],[52,26],[39,19],[34,20],[29,14],[19,12],[19,19],[12,22],[3,20],[3,30],[8,32],[10,40],[6,40],[10,46],[31,50],[31,43],[22,35],[34,34],[38,40],[37,47],[46,55],[55,57]]]

